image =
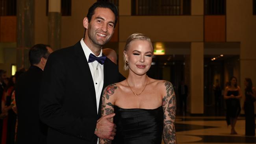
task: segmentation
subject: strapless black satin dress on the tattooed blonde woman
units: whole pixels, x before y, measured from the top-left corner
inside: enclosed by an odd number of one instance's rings
[[[112,144],[161,144],[163,108],[122,109],[114,106],[117,132]]]

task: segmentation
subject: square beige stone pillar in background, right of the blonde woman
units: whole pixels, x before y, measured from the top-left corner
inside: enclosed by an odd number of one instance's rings
[[[204,43],[191,42],[190,52],[191,114],[204,113]]]

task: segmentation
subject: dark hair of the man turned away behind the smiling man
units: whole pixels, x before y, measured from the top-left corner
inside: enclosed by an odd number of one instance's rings
[[[46,47],[50,47],[46,44],[36,44],[30,48],[28,52],[28,57],[30,61],[30,65],[38,64],[42,57],[48,59],[50,53],[48,52]]]

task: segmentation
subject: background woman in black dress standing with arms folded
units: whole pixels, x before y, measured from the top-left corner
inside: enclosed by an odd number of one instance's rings
[[[231,125],[231,135],[236,135],[235,130],[236,120],[241,111],[240,98],[241,89],[237,86],[236,77],[231,77],[228,87],[224,91],[224,99],[226,100],[226,121],[228,125]]]

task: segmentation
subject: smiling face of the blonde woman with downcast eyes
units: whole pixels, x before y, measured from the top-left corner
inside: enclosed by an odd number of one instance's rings
[[[124,51],[126,61],[128,61],[129,69],[137,75],[145,74],[152,63],[153,47],[148,41],[135,40]]]

